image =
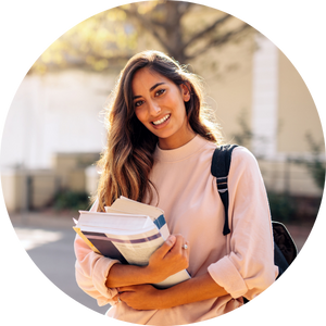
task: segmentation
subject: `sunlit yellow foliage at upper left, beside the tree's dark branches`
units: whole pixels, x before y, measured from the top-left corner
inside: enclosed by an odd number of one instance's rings
[[[133,55],[136,45],[137,34],[126,22],[126,14],[106,5],[61,29],[40,49],[25,72],[45,73],[71,66],[103,71],[110,63],[124,62]]]

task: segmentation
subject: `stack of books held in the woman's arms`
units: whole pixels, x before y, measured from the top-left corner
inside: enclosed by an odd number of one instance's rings
[[[116,259],[123,264],[145,266],[151,254],[170,236],[164,212],[125,197],[105,206],[103,212],[79,211],[74,230],[96,253]],[[154,284],[172,287],[190,278],[184,269]]]

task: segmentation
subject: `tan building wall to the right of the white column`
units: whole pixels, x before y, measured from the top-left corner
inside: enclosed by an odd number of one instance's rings
[[[316,141],[325,142],[325,120],[317,95],[310,84],[310,76],[281,45],[278,47],[278,116],[277,148],[280,153],[304,154],[309,152],[305,133]],[[326,147],[323,149],[326,153]]]

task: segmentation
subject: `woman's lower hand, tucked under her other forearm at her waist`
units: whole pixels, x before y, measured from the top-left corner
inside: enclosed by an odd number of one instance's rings
[[[155,289],[151,285],[137,285],[117,288],[118,294],[113,298],[118,299],[136,310],[163,309],[163,301],[160,296],[162,290]]]

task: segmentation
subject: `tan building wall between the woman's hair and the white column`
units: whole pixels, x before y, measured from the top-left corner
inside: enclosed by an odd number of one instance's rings
[[[193,33],[197,32],[198,26],[193,23],[195,20],[199,20],[198,24],[204,26],[226,14],[225,9],[218,5],[204,5],[205,12],[195,12],[188,17],[188,25],[192,26]],[[225,26],[225,30],[237,27],[243,22],[243,17],[234,16]],[[189,52],[193,53],[204,43],[204,40],[199,45],[195,43]],[[254,46],[252,34],[225,46],[211,48],[206,53],[191,61],[190,67],[203,77],[208,103],[215,111],[227,142],[234,141],[234,135],[239,133],[238,118],[241,114],[246,115],[246,120],[251,125]]]

